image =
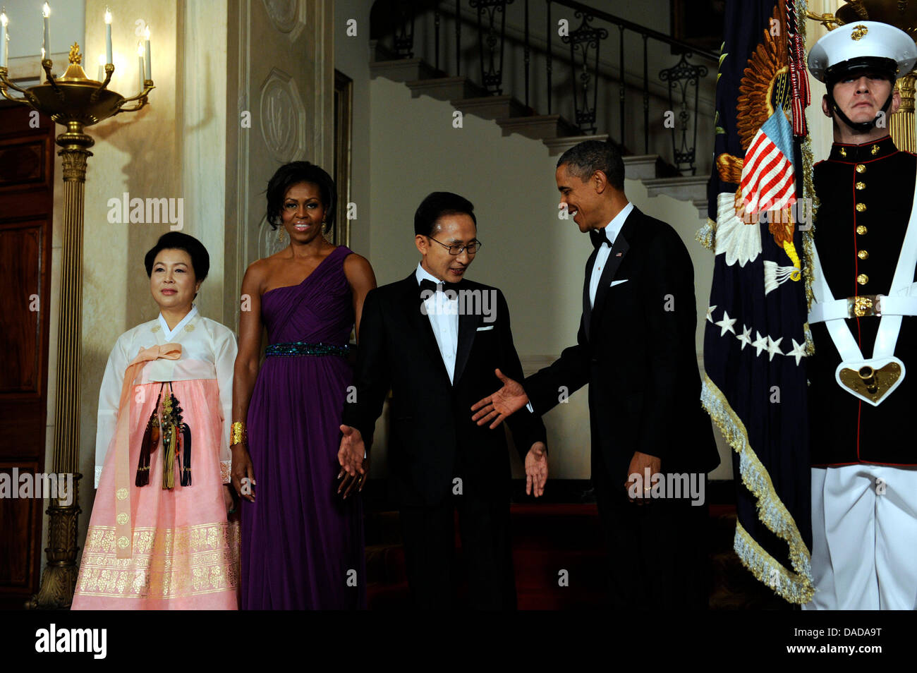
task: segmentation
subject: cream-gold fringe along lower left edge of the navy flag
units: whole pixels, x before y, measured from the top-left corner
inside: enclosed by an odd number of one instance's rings
[[[719,426],[729,446],[739,454],[742,483],[755,495],[757,518],[790,546],[790,562],[795,572],[770,556],[747,534],[741,524],[735,526],[735,553],[758,581],[777,591],[783,600],[799,604],[811,601],[815,590],[812,586],[812,557],[809,548],[802,541],[792,515],[780,501],[768,470],[748,443],[745,424],[726,401],[723,392],[706,374],[703,377],[701,402]]]

